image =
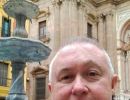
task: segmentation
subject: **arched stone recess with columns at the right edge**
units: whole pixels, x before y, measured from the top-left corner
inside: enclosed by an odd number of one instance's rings
[[[127,21],[121,31],[121,84],[124,92],[130,92],[130,21]]]

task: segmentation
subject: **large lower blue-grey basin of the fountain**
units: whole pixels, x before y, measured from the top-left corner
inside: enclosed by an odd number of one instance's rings
[[[51,49],[41,41],[19,37],[0,38],[0,60],[37,62],[50,55]]]

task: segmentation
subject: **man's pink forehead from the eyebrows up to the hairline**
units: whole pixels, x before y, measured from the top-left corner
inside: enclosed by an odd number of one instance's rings
[[[78,64],[96,64],[106,66],[107,60],[103,51],[92,44],[74,44],[61,49],[54,61],[57,70]]]

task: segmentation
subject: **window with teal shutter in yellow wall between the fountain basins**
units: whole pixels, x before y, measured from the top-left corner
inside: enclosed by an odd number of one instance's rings
[[[2,37],[9,37],[10,36],[10,25],[11,20],[5,17],[2,17]]]

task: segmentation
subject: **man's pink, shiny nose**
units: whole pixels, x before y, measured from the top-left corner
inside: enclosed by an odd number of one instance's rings
[[[73,83],[72,94],[76,96],[86,95],[88,93],[88,87],[80,77],[77,77]]]

